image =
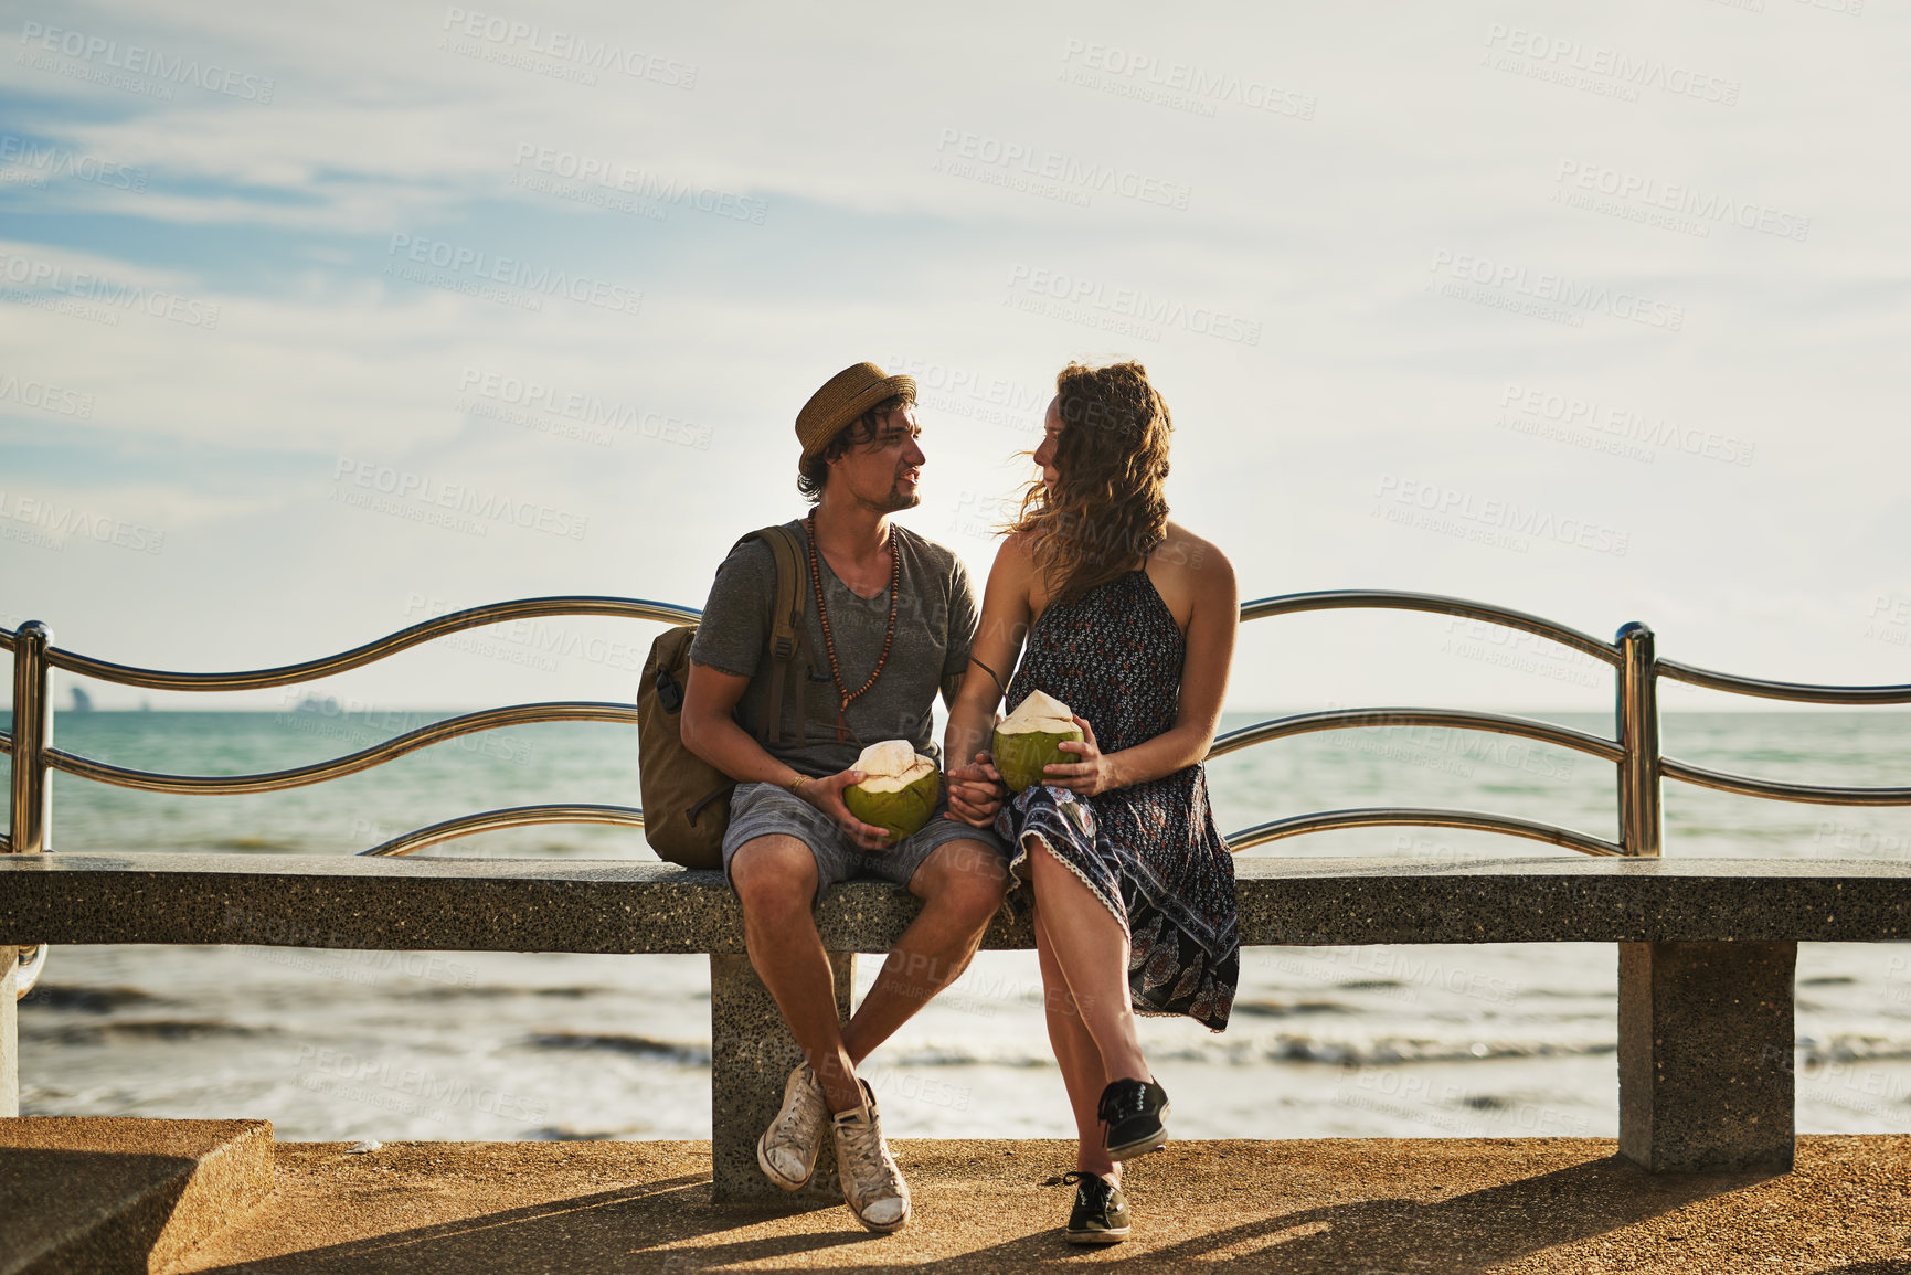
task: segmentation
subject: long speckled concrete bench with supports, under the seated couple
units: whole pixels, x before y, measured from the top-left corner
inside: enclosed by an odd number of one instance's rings
[[[1798,942],[1911,940],[1911,864],[1771,858],[1236,858],[1244,946],[1617,942],[1619,1145],[1653,1172],[1793,1164]],[[908,891],[856,881],[818,912],[848,1011],[856,952],[885,952]],[[703,952],[719,1199],[774,1199],[755,1139],[797,1061],[715,872],[474,858],[0,856],[0,952],[268,944],[443,952]],[[998,921],[986,948],[1030,948]],[[0,971],[4,973],[4,971]],[[17,1021],[0,979],[0,1095]],[[17,1099],[15,1099],[17,1103]],[[13,1114],[17,1105],[0,1114]]]

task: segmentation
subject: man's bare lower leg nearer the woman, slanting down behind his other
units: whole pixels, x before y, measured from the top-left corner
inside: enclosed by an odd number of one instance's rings
[[[1007,883],[1001,854],[984,841],[950,841],[923,860],[910,877],[910,893],[923,900],[923,910],[902,931],[875,984],[843,1028],[850,1063],[870,1057],[969,967]]]

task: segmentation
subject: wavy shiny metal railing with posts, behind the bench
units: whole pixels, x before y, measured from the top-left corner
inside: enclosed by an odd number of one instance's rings
[[[1502,713],[1468,713],[1431,707],[1330,709],[1322,713],[1277,717],[1233,730],[1213,742],[1213,747],[1208,753],[1210,759],[1225,757],[1236,749],[1265,744],[1269,740],[1282,740],[1315,730],[1433,726],[1521,736],[1538,744],[1550,744],[1615,763],[1619,774],[1619,841],[1607,841],[1573,828],[1559,828],[1556,824],[1510,814],[1492,814],[1487,810],[1368,807],[1353,810],[1317,810],[1311,814],[1298,814],[1244,828],[1229,837],[1229,845],[1236,851],[1311,832],[1376,826],[1428,826],[1529,837],[1561,845],[1582,854],[1657,856],[1663,841],[1661,782],[1666,778],[1749,797],[1771,797],[1777,801],[1810,801],[1823,805],[1911,805],[1911,788],[1836,788],[1819,784],[1791,784],[1747,774],[1726,774],[1695,767],[1674,757],[1664,757],[1659,753],[1657,681],[1661,677],[1670,677],[1710,690],[1804,703],[1911,703],[1911,686],[1817,686],[1806,682],[1777,682],[1737,677],[1731,673],[1699,669],[1672,659],[1657,659],[1653,652],[1653,633],[1642,623],[1628,623],[1619,631],[1619,637],[1613,642],[1603,642],[1588,633],[1580,633],[1578,629],[1571,629],[1542,616],[1431,593],[1401,593],[1385,589],[1290,593],[1244,602],[1240,608],[1240,619],[1250,621],[1273,616],[1296,616],[1301,612],[1343,608],[1410,610],[1460,616],[1466,619],[1531,633],[1582,656],[1615,665],[1615,738],[1607,740],[1603,736],[1573,730],[1556,723],[1529,717],[1508,717]],[[61,770],[76,778],[143,791],[260,793],[298,788],[304,784],[321,784],[325,780],[369,770],[371,767],[384,765],[386,761],[403,757],[405,753],[420,747],[480,730],[556,721],[636,723],[636,709],[629,703],[518,703],[501,709],[449,717],[445,721],[430,723],[426,726],[419,726],[417,730],[394,736],[371,747],[363,747],[355,753],[333,757],[308,767],[266,770],[258,774],[164,774],[115,767],[105,761],[80,757],[78,753],[54,747],[52,669],[65,669],[69,673],[78,673],[103,682],[143,686],[151,690],[260,690],[308,682],[334,673],[344,673],[348,669],[357,669],[422,642],[462,633],[464,629],[552,616],[613,616],[623,619],[652,619],[680,625],[694,623],[699,612],[688,606],[650,602],[644,598],[520,598],[514,602],[474,606],[470,610],[438,616],[336,656],[243,673],[168,673],[161,669],[141,669],[107,659],[94,659],[90,656],[54,646],[52,631],[38,621],[23,623],[17,631],[0,629],[0,646],[13,652],[13,730],[0,732],[0,751],[6,751],[11,757],[10,824],[6,837],[0,837],[0,853],[44,853],[50,849],[48,770]],[[443,841],[466,837],[478,832],[535,824],[612,824],[621,828],[642,828],[644,812],[638,807],[619,805],[527,805],[480,810],[476,814],[464,814],[441,820],[428,828],[407,832],[386,841],[384,845],[361,851],[361,854],[409,854],[428,845],[440,845]],[[32,977],[38,977],[42,963],[44,948],[31,948],[23,956],[21,994],[32,986]]]

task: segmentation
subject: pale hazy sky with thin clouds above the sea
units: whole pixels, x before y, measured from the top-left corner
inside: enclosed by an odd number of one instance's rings
[[[1133,357],[1242,598],[1905,682],[1907,32],[1863,0],[6,4],[0,625],[214,671],[518,596],[699,606],[803,512],[795,415],[864,359],[921,386],[902,520],[980,581],[1055,373]],[[537,621],[310,690],[625,700],[654,635]],[[1229,692],[1611,702],[1387,612],[1250,625]]]

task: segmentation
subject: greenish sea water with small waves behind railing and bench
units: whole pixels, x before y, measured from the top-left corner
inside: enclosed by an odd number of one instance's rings
[[[65,713],[59,746],[120,765],[245,772],[354,751],[434,715]],[[1229,715],[1223,728],[1259,715]],[[1556,715],[1609,730],[1603,715]],[[1668,713],[1668,755],[1724,770],[1903,784],[1911,713]],[[1263,744],[1210,767],[1223,832],[1353,805],[1452,805],[1613,830],[1613,770],[1471,732]],[[59,851],[350,854],[476,809],[636,803],[634,728],[522,726],[359,776],[252,797],[54,780]],[[432,854],[652,858],[615,828],[531,828]],[[1567,854],[1447,830],[1244,851],[1305,858]],[[1666,786],[1668,856],[1905,858],[1911,810]],[[1235,1021],[1143,1019],[1181,1137],[1611,1135],[1611,944],[1250,948]],[[875,958],[858,962],[860,983]],[[1030,952],[984,952],[868,1065],[892,1135],[1072,1134]],[[1911,1130],[1911,948],[1806,944],[1802,1132]],[[21,1007],[29,1114],[268,1116],[285,1139],[707,1137],[699,956],[57,948]]]

